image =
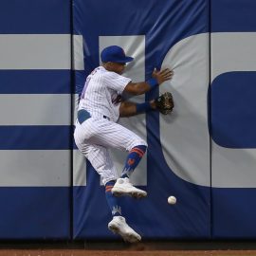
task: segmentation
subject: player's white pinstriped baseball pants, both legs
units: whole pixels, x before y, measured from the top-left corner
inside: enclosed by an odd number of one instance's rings
[[[74,137],[79,150],[101,175],[104,185],[119,177],[109,153],[110,148],[130,151],[137,145],[147,146],[134,132],[103,118],[86,119],[82,124],[77,121]]]

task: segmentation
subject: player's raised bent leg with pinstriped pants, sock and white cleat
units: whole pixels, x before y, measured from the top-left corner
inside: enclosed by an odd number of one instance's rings
[[[147,192],[134,187],[129,178],[126,177],[127,166],[129,167],[128,170],[130,174],[132,174],[143,152],[146,151],[147,143],[141,137],[138,137],[135,133],[118,123],[108,121],[107,119],[88,119],[83,122],[82,125],[76,127],[75,140],[78,147],[79,145],[83,145],[84,141],[86,141],[87,144],[91,145],[101,145],[105,148],[129,151],[129,157],[123,168],[124,176],[117,180],[112,192],[117,196],[130,195],[136,198],[145,197],[147,195]],[[133,158],[129,161],[131,155]],[[133,164],[131,164],[132,162]],[[104,173],[106,172],[104,171]]]

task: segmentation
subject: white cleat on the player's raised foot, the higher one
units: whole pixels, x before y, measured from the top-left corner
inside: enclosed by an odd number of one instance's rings
[[[119,178],[115,183],[112,191],[115,196],[129,195],[135,198],[147,196],[147,192],[137,189],[130,183],[129,178]]]

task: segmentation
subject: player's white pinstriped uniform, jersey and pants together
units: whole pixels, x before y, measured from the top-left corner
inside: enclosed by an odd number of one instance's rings
[[[91,118],[82,124],[76,121],[74,137],[79,150],[101,175],[103,184],[118,178],[109,148],[130,151],[137,145],[147,146],[142,138],[117,123],[117,99],[129,82],[130,79],[99,66],[87,77],[82,90],[79,110],[85,109]]]

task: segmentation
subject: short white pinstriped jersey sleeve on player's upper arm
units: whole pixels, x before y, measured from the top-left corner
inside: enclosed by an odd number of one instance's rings
[[[105,85],[112,90],[118,91],[119,93],[122,93],[125,86],[131,81],[131,79],[123,77],[115,72],[108,72],[104,76]]]

